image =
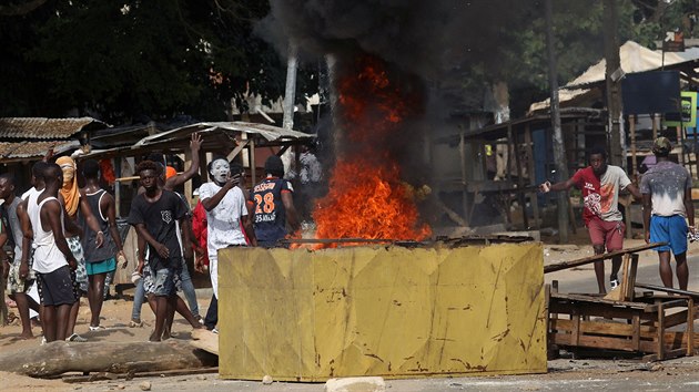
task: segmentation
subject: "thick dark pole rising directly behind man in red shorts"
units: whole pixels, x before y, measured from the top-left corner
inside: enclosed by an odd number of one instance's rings
[[[604,31],[605,31],[605,62],[607,64],[606,91],[607,91],[607,132],[609,140],[609,159],[612,165],[626,168],[626,137],[621,120],[621,84],[615,75],[620,74],[619,34],[617,0],[602,0],[604,4]]]

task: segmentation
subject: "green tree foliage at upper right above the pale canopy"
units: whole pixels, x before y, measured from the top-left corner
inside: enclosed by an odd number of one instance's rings
[[[528,109],[523,100],[548,96],[548,60],[544,2],[529,2],[518,27],[508,31],[510,48],[505,51],[505,72],[493,74],[510,85],[513,116],[521,116]],[[554,25],[557,76],[563,85],[604,58],[604,7],[601,0],[555,0]],[[667,6],[657,0],[617,1],[619,42],[634,40],[655,49],[665,31],[682,29],[692,34],[689,16],[696,11],[695,1],[677,0]]]

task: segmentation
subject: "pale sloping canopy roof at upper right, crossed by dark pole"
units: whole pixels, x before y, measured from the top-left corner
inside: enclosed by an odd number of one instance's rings
[[[619,48],[619,58],[624,73],[659,70],[663,66],[677,65],[699,58],[698,55],[697,58],[687,59],[687,56],[678,53],[666,52],[663,60],[662,55],[662,52],[652,51],[634,41],[627,41]],[[564,103],[566,106],[575,105],[576,102],[582,101],[588,94],[592,94],[595,90],[599,91],[599,85],[605,82],[606,66],[607,62],[602,59],[587,69],[581,75],[561,86],[558,90],[558,99],[561,106]],[[533,103],[529,106],[529,114],[548,110],[549,105],[550,99]]]

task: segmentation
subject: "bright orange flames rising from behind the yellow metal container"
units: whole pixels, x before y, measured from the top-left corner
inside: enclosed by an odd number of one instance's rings
[[[383,64],[358,61],[361,71],[340,80],[338,155],[328,194],[313,212],[316,238],[424,239],[412,193],[387,145],[402,135],[404,118],[414,113],[413,97],[392,83]],[[344,148],[343,148],[344,147]]]

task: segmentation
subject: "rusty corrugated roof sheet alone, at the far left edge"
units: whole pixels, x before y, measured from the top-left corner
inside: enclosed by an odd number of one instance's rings
[[[69,138],[87,125],[107,124],[92,117],[43,118],[43,117],[3,117],[0,118],[0,138]]]

